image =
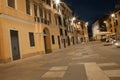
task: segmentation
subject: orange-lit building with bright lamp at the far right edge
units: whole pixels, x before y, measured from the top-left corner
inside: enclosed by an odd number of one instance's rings
[[[111,32],[110,36],[113,36],[116,40],[120,40],[120,10],[110,14],[105,20],[107,32]]]

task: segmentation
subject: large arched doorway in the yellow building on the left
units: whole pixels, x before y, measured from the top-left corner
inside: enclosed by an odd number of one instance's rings
[[[45,53],[52,52],[51,49],[51,40],[50,40],[50,32],[47,28],[43,30],[44,33],[44,47],[45,47]]]

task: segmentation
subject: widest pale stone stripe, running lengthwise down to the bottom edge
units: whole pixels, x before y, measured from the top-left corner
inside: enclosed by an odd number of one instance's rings
[[[110,80],[96,63],[85,63],[87,80]]]

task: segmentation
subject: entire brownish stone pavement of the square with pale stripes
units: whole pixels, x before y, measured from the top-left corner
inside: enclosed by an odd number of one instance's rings
[[[0,64],[0,80],[120,80],[120,48],[90,42]]]

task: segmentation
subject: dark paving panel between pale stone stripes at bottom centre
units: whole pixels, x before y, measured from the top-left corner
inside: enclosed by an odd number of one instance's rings
[[[65,80],[87,80],[83,64],[70,65],[64,76]]]

